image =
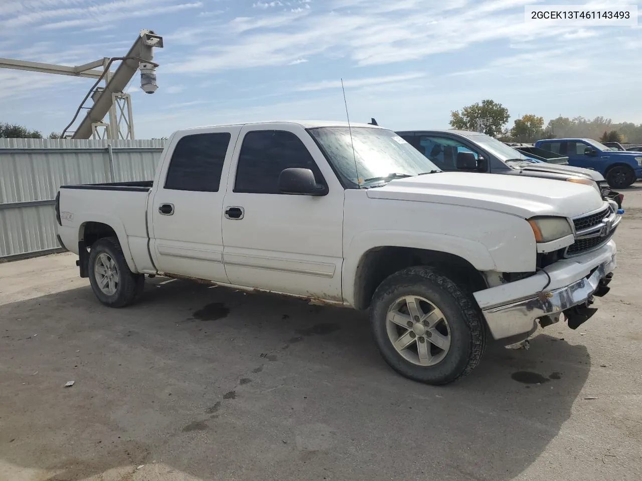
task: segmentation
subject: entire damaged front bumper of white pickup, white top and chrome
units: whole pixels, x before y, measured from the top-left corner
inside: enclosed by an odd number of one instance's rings
[[[573,259],[564,259],[534,276],[474,293],[494,339],[530,335],[554,323],[564,312],[569,327],[577,328],[594,313],[593,296],[609,291],[616,267],[615,242]],[[548,283],[548,285],[546,285]]]

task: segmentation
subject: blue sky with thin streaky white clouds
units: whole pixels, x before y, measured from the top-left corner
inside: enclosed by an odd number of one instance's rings
[[[141,28],[154,30],[165,46],[154,58],[159,90],[144,94],[138,77],[129,88],[141,139],[343,120],[340,78],[351,121],[397,130],[447,128],[451,110],[485,98],[505,105],[511,124],[530,113],[642,123],[642,26],[526,23],[526,4],[546,2],[1,0],[0,56],[80,65],[125,55]],[[61,131],[92,83],[0,69],[0,121]]]

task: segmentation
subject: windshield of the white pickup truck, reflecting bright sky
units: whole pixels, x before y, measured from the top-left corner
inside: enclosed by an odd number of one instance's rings
[[[369,127],[351,130],[318,127],[308,129],[308,132],[317,140],[335,171],[354,187],[440,172],[437,165],[391,130]]]

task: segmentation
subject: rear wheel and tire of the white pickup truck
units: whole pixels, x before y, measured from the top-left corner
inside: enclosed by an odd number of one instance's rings
[[[98,239],[91,246],[87,266],[91,289],[108,307],[134,303],[144,289],[145,276],[130,271],[116,237]]]

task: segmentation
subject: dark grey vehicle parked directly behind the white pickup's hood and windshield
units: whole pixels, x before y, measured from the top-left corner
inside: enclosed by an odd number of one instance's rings
[[[444,171],[468,170],[586,183],[601,192],[604,199],[611,199],[618,204],[618,208],[622,207],[624,196],[611,190],[597,171],[562,164],[532,163],[530,154],[517,151],[484,133],[467,130],[412,130],[397,133]],[[458,165],[456,158],[460,152],[472,153],[475,162]],[[557,153],[554,155],[559,156]]]

